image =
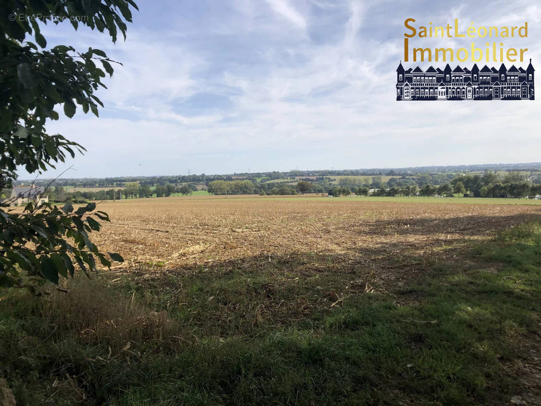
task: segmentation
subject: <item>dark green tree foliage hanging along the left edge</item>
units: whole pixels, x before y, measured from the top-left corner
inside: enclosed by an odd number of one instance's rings
[[[47,120],[58,120],[59,111],[74,116],[98,116],[103,103],[94,94],[114,62],[100,49],[79,52],[69,45],[47,48],[40,24],[80,24],[108,32],[115,42],[126,38],[131,22],[131,0],[7,0],[0,9],[0,185],[9,187],[16,169],[41,173],[64,162],[84,148],[60,134],[47,133]],[[55,110],[56,109],[56,110]],[[9,203],[9,202],[8,202]],[[115,253],[105,256],[89,239],[100,230],[106,213],[90,203],[74,209],[31,202],[24,211],[0,208],[0,285],[33,286],[75,272],[96,270],[122,261]],[[25,273],[29,278],[23,279]]]

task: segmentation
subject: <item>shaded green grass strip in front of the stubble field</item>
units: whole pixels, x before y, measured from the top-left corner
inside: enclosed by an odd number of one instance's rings
[[[21,405],[508,404],[538,344],[540,240],[530,222],[400,258],[417,271],[392,289],[297,253],[2,291],[0,376]]]

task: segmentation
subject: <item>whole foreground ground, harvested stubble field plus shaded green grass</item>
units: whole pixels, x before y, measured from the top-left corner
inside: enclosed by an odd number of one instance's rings
[[[23,404],[539,404],[541,207],[479,200],[102,202],[126,262],[0,294],[4,376]]]

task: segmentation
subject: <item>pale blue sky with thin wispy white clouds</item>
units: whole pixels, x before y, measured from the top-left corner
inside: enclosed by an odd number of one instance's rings
[[[541,74],[541,5],[535,2],[137,3],[126,41],[113,44],[108,35],[74,31],[67,22],[43,29],[48,47],[99,48],[123,67],[97,93],[105,104],[99,119],[79,108],[72,119],[48,124],[50,134],[88,152],[42,177],[70,165],[63,178],[541,161],[539,100],[395,99],[409,17],[416,27],[458,18],[461,31],[472,22],[527,21],[527,38],[503,41],[506,48],[528,48],[525,57]],[[417,37],[410,44],[469,48],[471,41],[486,42]],[[20,171],[19,177],[30,175]]]

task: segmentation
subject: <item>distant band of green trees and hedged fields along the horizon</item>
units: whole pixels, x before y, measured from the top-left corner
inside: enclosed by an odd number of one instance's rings
[[[260,194],[291,195],[303,193],[328,193],[331,196],[350,194],[372,196],[459,196],[484,198],[523,198],[541,194],[541,173],[509,171],[504,176],[497,172],[484,174],[417,174],[393,176],[384,181],[384,175],[341,176],[338,181],[332,176],[283,179],[284,173],[273,172],[272,176],[257,179],[214,179],[199,185],[206,186],[210,194]],[[194,175],[195,176],[195,175]],[[201,176],[201,175],[197,175]],[[160,177],[169,179],[171,177]],[[275,178],[276,182],[267,182]],[[168,197],[174,194],[189,195],[197,190],[196,183],[176,184],[150,180],[128,181],[129,178],[107,178],[105,185],[114,185],[115,199]],[[100,182],[97,182],[100,184]],[[88,180],[85,185],[90,185]],[[89,186],[87,186],[89,187]],[[105,186],[106,187],[106,186]],[[5,191],[4,194],[10,191]],[[49,199],[57,202],[84,202],[88,200],[112,200],[113,188],[100,191],[67,192],[62,185],[48,191]]]

